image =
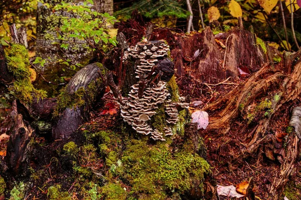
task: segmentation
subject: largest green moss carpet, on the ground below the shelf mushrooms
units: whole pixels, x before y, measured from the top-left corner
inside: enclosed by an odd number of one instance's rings
[[[157,195],[155,199],[165,199],[165,190],[185,192],[196,186],[195,182],[203,189],[204,174],[210,172],[210,166],[188,149],[171,153],[167,142],[149,145],[146,141],[132,139],[122,156],[125,173],[121,175],[130,181],[134,193],[148,196],[145,199],[151,199],[151,195]]]

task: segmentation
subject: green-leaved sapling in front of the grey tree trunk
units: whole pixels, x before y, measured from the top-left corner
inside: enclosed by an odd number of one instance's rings
[[[54,24],[50,27],[50,30],[58,34],[46,33],[45,38],[59,40],[52,42],[52,44],[57,45],[61,51],[64,52],[69,48],[73,50],[85,48],[88,51],[96,50],[101,53],[110,49],[109,43],[116,46],[116,37],[111,38],[108,34],[108,27],[117,20],[108,13],[93,10],[93,0],[86,0],[83,4],[62,1],[54,6],[44,2],[44,0],[40,0],[40,2],[55,12],[68,12],[66,15],[52,14],[47,18],[47,21]],[[80,41],[80,46],[73,45],[74,41]],[[35,62],[45,63],[41,58],[37,58]],[[62,57],[58,59],[58,62],[67,65],[71,69],[81,66],[81,64],[74,63],[68,57]]]

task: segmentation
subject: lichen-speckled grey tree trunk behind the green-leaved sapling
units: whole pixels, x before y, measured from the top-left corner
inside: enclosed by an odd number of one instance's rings
[[[98,12],[107,12],[109,14],[113,14],[113,0],[93,0],[94,5],[92,6],[93,10],[97,10]],[[56,5],[60,3],[57,0],[46,0],[46,3],[50,5]],[[65,1],[66,2],[66,1]],[[83,3],[82,0],[68,0],[67,2],[73,2],[77,5]],[[60,26],[59,17],[57,20],[50,21],[50,15],[58,15],[58,16],[67,16],[68,12],[54,12],[44,6],[41,2],[38,3],[38,11],[37,11],[37,56],[42,57],[47,60],[45,66],[38,66],[41,72],[44,73],[47,69],[52,69],[57,67],[57,61],[62,57],[65,59],[71,59],[73,63],[82,63],[84,60],[89,60],[91,56],[91,52],[87,49],[83,48],[82,45],[85,43],[81,40],[72,40],[69,43],[69,47],[66,51],[60,47],[61,40],[59,39],[49,39],[45,38],[46,34],[52,35],[54,38],[57,38],[57,32],[51,30],[54,26]],[[49,36],[49,35],[48,35]],[[58,44],[54,45],[53,42],[58,42]],[[64,41],[66,42],[66,41]],[[84,61],[87,63],[87,61]],[[45,72],[47,74],[47,72]],[[51,73],[51,72],[50,72]]]

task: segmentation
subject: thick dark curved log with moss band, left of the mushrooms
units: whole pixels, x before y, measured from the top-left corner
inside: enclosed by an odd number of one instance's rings
[[[87,120],[87,113],[101,94],[106,82],[106,68],[101,63],[89,64],[79,70],[61,90],[54,115],[58,121],[53,128],[54,138],[67,138]]]

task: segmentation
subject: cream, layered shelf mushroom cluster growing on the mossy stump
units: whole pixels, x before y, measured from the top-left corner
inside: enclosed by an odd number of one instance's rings
[[[168,44],[164,41],[154,45],[152,43],[141,44],[129,47],[124,52],[123,61],[132,57],[136,60],[137,67],[135,68],[136,77],[139,77],[143,72],[148,75],[153,71],[153,67],[158,63],[158,57],[167,57],[169,50]],[[156,109],[160,104],[166,103],[166,113],[169,116],[167,122],[169,125],[176,124],[178,121],[177,106],[187,107],[188,103],[171,102],[170,92],[166,88],[166,81],[159,80],[157,84],[148,85],[143,89],[140,98],[138,96],[139,83],[133,84],[128,93],[128,97],[122,99],[121,116],[123,120],[132,126],[140,134],[148,135],[154,140],[165,140],[164,136],[172,135],[171,127],[164,127],[164,133],[158,129],[153,128],[149,124],[150,117],[156,114]]]

